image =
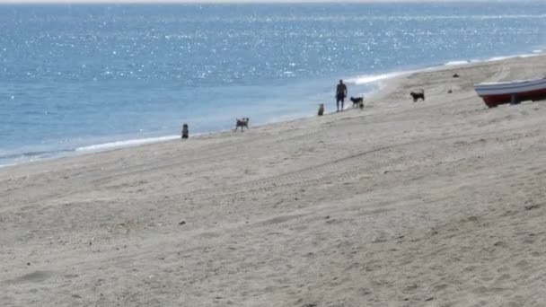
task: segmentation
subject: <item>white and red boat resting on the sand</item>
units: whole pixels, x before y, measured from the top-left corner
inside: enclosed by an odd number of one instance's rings
[[[474,84],[474,90],[489,108],[503,103],[546,99],[546,78]]]

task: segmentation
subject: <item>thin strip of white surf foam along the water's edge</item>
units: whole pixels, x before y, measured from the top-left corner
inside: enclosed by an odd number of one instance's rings
[[[378,92],[381,92],[382,83],[389,83],[393,79],[403,77],[404,75],[418,74],[418,73],[422,73],[422,72],[441,70],[441,69],[446,69],[446,68],[456,68],[456,67],[459,67],[459,66],[463,67],[463,66],[480,65],[480,64],[486,64],[486,63],[491,63],[491,62],[509,60],[509,59],[514,59],[514,58],[541,57],[544,54],[545,53],[544,53],[543,50],[533,50],[533,53],[524,53],[524,54],[520,54],[520,55],[505,56],[505,57],[489,57],[488,59],[483,59],[483,60],[473,60],[473,59],[469,59],[469,60],[452,60],[452,61],[446,62],[444,65],[441,65],[441,66],[428,66],[428,67],[418,68],[417,70],[396,71],[396,72],[389,72],[389,73],[383,73],[383,74],[378,74],[378,75],[357,75],[357,76],[353,76],[353,77],[348,77],[346,79],[346,81],[348,83],[355,83],[357,85],[366,84],[366,83],[367,84],[374,84],[375,90],[373,92],[371,92],[370,96],[369,96],[369,97],[374,97],[375,94],[377,94]],[[369,97],[365,97],[365,99],[369,99]],[[350,101],[347,101],[347,102],[350,103]],[[350,107],[346,108],[346,110],[349,110],[349,109],[350,109]],[[325,115],[329,115],[329,114],[332,114],[332,113],[335,113],[335,112],[327,112],[327,113],[325,113]],[[285,115],[283,117],[291,118],[290,115]],[[289,119],[289,120],[280,119],[278,121],[269,121],[269,122],[266,122],[266,123],[258,123],[258,125],[254,126],[254,127],[263,127],[263,126],[268,126],[268,125],[275,125],[275,124],[279,124],[279,123],[283,123],[283,122],[287,122],[287,121],[299,120],[299,119],[304,119],[304,118],[313,118],[313,115],[309,115],[309,116],[306,116],[306,117],[292,118],[292,119]],[[229,129],[206,131],[206,132],[200,132],[198,134],[195,134],[192,137],[222,134],[222,133],[229,132],[229,131],[230,131]],[[10,167],[10,166],[14,166],[14,165],[21,165],[21,164],[25,164],[25,163],[44,162],[44,161],[50,161],[50,160],[55,160],[55,159],[62,159],[62,158],[65,158],[65,157],[77,156],[77,155],[81,155],[81,154],[100,153],[100,152],[115,150],[115,149],[119,149],[119,148],[128,148],[128,147],[134,147],[134,146],[139,146],[139,145],[150,145],[150,144],[153,145],[155,143],[160,143],[160,142],[164,142],[164,141],[171,141],[171,140],[174,140],[174,139],[177,139],[177,138],[178,138],[178,135],[165,135],[165,136],[148,136],[148,137],[141,137],[141,138],[138,138],[138,137],[137,138],[128,138],[128,139],[125,139],[125,140],[113,140],[111,142],[106,142],[106,143],[83,145],[83,146],[78,146],[78,147],[75,147],[75,148],[64,148],[64,149],[59,149],[59,150],[47,151],[47,152],[43,152],[43,153],[40,152],[40,154],[46,155],[46,156],[45,157],[39,157],[36,160],[31,160],[30,159],[30,160],[25,160],[25,161],[21,161],[21,162],[13,162],[13,160],[15,160],[17,158],[25,157],[25,156],[34,156],[34,155],[38,155],[38,154],[34,154],[35,152],[31,152],[32,154],[26,153],[26,152],[25,153],[9,153],[9,154],[7,154],[7,156],[10,156],[10,157],[13,157],[13,158],[11,158],[11,160],[10,160],[10,159],[6,159],[5,157],[4,158],[0,157],[0,158],[3,158],[4,160],[6,160],[5,163],[0,164],[0,168]]]

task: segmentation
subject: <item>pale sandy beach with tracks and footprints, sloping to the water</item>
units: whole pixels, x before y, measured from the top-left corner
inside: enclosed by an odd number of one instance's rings
[[[546,101],[472,84],[545,75],[443,67],[364,110],[2,168],[0,305],[544,306]]]

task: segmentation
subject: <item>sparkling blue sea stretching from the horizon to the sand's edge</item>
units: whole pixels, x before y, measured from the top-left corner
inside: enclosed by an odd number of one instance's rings
[[[543,2],[0,5],[0,164],[313,116],[431,66],[541,53]]]

